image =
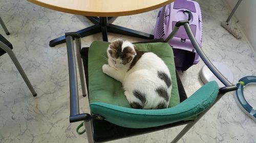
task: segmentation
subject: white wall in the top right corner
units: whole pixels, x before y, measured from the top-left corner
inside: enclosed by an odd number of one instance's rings
[[[238,0],[225,0],[233,9]],[[230,11],[231,12],[231,11]],[[240,22],[243,32],[256,51],[256,1],[243,0],[234,15]]]

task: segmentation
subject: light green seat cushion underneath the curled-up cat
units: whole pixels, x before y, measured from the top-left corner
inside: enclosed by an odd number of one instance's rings
[[[121,82],[102,72],[102,66],[108,64],[106,49],[109,47],[109,44],[109,42],[94,41],[89,48],[88,70],[90,103],[103,102],[132,108],[124,96]],[[156,53],[165,62],[172,76],[173,86],[169,107],[178,105],[180,98],[172,48],[167,43],[135,44],[135,46],[139,50]]]

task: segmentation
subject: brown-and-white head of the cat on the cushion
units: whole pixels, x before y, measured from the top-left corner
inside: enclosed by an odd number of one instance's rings
[[[134,45],[129,41],[115,40],[108,48],[109,65],[116,68],[129,66],[136,55]]]

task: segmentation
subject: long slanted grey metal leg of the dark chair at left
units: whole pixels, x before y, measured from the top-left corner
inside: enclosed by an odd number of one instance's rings
[[[32,95],[35,97],[37,94],[36,94],[34,88],[32,87],[32,84],[30,83],[30,81],[29,81],[29,79],[28,79],[26,73],[24,72],[22,66],[19,64],[19,62],[18,62],[18,60],[17,60],[15,54],[13,53],[13,51],[12,51],[7,45],[5,45],[5,44],[4,44],[3,42],[1,42],[1,41],[0,41],[0,48],[2,48],[3,50],[5,50],[5,51],[9,54],[9,56],[10,56],[12,62],[13,62],[14,65],[16,66],[18,72],[20,73],[20,75],[22,75],[22,78],[23,78],[24,81],[26,82],[26,84],[27,84],[27,86],[28,86],[30,92],[31,92]]]

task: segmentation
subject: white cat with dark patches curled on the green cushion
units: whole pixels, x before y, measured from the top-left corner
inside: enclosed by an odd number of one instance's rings
[[[172,90],[170,73],[153,52],[139,51],[129,41],[116,40],[107,50],[103,73],[120,81],[133,108],[167,108]]]

